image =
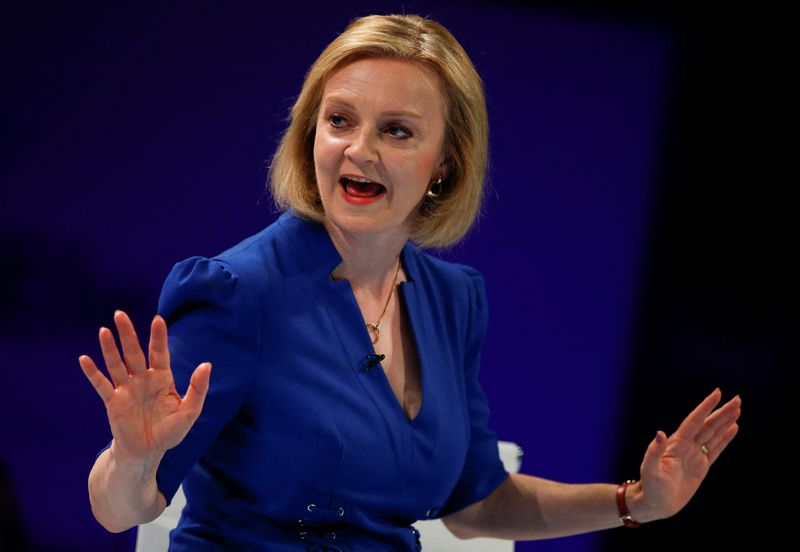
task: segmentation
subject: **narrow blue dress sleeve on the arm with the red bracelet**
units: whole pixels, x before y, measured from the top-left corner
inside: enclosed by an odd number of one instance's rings
[[[470,316],[464,354],[470,442],[461,476],[439,517],[483,500],[508,477],[500,460],[497,435],[489,428],[489,404],[478,382],[481,348],[488,323],[486,288],[478,271],[469,267],[464,267],[464,270],[470,280]]]

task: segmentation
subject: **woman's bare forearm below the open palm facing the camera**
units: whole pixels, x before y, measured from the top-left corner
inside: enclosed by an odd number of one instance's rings
[[[154,520],[166,507],[156,485],[161,458],[144,462],[119,461],[114,446],[104,451],[89,473],[89,501],[97,521],[119,533]]]

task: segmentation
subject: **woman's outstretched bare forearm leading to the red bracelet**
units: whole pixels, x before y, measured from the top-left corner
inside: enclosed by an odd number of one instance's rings
[[[609,529],[622,525],[616,490],[616,485],[569,485],[511,474],[486,499],[445,519],[445,523],[460,538],[491,536],[512,540]],[[635,518],[641,516],[641,521],[648,521],[648,514],[637,508],[638,495],[638,485],[628,488],[628,506]]]

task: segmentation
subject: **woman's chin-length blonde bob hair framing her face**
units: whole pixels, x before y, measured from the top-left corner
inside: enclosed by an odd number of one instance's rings
[[[480,76],[453,35],[439,23],[416,15],[356,19],[320,54],[306,74],[289,128],[272,159],[269,183],[273,199],[281,209],[291,208],[316,221],[324,219],[314,171],[322,94],[337,69],[363,58],[420,63],[439,78],[446,104],[446,175],[439,196],[424,196],[412,214],[411,239],[423,247],[454,245],[480,211],[488,158],[486,98]]]

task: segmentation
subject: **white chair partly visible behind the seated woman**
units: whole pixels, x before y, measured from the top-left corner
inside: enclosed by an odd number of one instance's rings
[[[510,473],[517,473],[522,462],[522,449],[514,443],[500,441],[500,459]],[[166,552],[169,532],[178,524],[186,504],[183,489],[178,488],[172,503],[155,520],[140,525],[136,535],[136,552]],[[459,540],[441,520],[419,521],[414,526],[420,532],[423,552],[514,552],[514,542],[499,539]]]

